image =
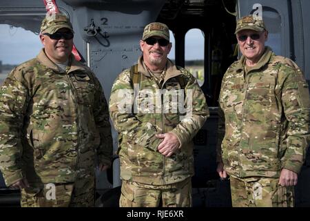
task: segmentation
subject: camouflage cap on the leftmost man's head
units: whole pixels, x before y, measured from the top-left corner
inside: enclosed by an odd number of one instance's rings
[[[61,28],[68,28],[74,33],[70,19],[61,13],[47,15],[41,23],[41,33],[54,34]]]

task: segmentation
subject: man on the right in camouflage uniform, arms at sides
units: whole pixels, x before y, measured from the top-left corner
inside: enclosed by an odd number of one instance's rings
[[[217,171],[230,175],[233,206],[293,206],[310,138],[307,82],[265,46],[262,19],[242,17],[236,37],[242,57],[220,90]]]

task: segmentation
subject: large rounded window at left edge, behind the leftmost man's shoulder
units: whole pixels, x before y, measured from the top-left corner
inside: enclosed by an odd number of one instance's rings
[[[8,24],[0,24],[0,84],[18,64],[36,57],[42,48],[39,36]]]

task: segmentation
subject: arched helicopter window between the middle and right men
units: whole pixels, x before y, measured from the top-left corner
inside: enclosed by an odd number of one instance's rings
[[[185,68],[196,77],[199,86],[205,82],[205,35],[193,28],[185,35]]]

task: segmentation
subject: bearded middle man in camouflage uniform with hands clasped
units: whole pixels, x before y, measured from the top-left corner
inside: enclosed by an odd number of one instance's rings
[[[205,95],[167,59],[172,44],[165,24],[145,26],[140,46],[138,65],[117,77],[110,97],[123,180],[119,204],[192,206],[192,138],[209,116]]]

